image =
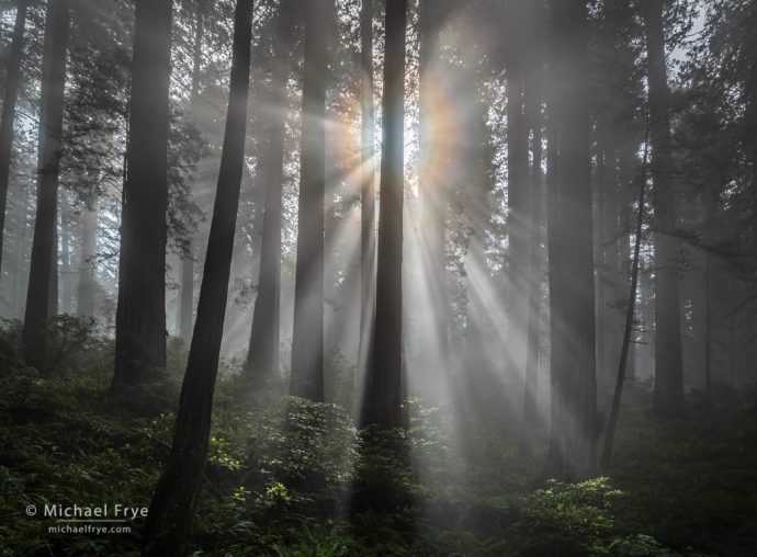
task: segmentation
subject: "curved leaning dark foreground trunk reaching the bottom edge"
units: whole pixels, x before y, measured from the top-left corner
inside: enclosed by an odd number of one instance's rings
[[[197,319],[181,387],[171,455],[158,481],[145,524],[144,556],[178,557],[188,554],[207,456],[213,391],[234,252],[245,162],[251,38],[252,0],[238,0],[226,132],[197,302]]]

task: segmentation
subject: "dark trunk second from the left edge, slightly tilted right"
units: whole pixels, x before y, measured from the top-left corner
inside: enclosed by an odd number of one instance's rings
[[[44,365],[45,361],[45,323],[52,317],[53,262],[57,262],[56,213],[68,48],[68,0],[52,0],[47,9],[39,107],[37,211],[22,332],[26,361],[35,366]],[[57,281],[55,285],[57,288]]]

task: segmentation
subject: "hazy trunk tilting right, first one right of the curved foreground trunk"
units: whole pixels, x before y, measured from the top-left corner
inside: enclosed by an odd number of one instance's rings
[[[273,47],[271,115],[268,156],[264,164],[265,208],[262,215],[262,243],[258,296],[252,314],[252,332],[245,371],[256,386],[279,375],[279,334],[281,303],[281,203],[284,180],[284,138],[286,134],[286,81],[292,43],[292,2],[279,4],[276,37]]]

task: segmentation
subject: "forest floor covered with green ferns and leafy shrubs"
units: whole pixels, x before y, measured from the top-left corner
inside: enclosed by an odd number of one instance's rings
[[[109,361],[101,346],[43,377],[0,339],[0,555],[138,555],[144,519],[95,534],[45,515],[149,504],[172,414],[115,410]],[[496,417],[454,441],[411,401],[407,434],[358,432],[336,405],[242,408],[237,387],[219,382],[194,555],[755,555],[755,389],[659,421],[630,388],[609,478],[572,485],[540,480],[543,452],[521,458]]]

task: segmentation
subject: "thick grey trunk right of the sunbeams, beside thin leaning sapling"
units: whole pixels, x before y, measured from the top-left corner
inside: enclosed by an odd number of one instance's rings
[[[552,405],[550,473],[563,479],[596,469],[597,407],[591,152],[589,140],[587,5],[558,0],[551,7],[555,116],[558,125],[554,213],[560,252],[551,270]],[[552,226],[553,223],[550,223]]]

